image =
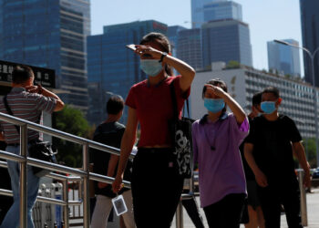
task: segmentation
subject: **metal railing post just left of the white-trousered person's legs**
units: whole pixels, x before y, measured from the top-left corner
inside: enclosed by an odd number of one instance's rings
[[[83,226],[89,228],[89,169],[88,169],[88,144],[83,144],[83,171],[87,172],[87,175],[83,177]]]

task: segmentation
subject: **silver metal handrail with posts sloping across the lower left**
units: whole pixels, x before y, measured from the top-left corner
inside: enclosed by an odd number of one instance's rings
[[[34,122],[27,121],[25,119],[19,119],[5,113],[0,113],[0,120],[5,122],[9,122],[15,125],[20,126],[20,155],[16,155],[10,152],[6,152],[0,150],[0,158],[10,160],[10,161],[17,161],[20,163],[20,227],[26,227],[26,164],[31,166],[36,166],[39,168],[44,168],[50,171],[59,171],[62,173],[71,173],[74,175],[79,176],[83,179],[83,189],[84,189],[84,197],[83,197],[83,227],[89,228],[89,191],[88,191],[88,183],[89,180],[93,181],[102,181],[107,183],[112,183],[114,178],[99,175],[98,173],[90,172],[88,170],[88,149],[97,149],[102,150],[111,154],[119,155],[119,150],[117,148],[113,148],[96,141],[87,140],[81,137],[77,137],[75,135],[48,128],[46,126],[42,126],[36,124]],[[83,148],[83,169],[78,170],[74,168],[70,168],[64,165],[58,165],[46,161],[39,161],[33,158],[29,158],[26,156],[26,148],[27,148],[27,130],[36,130],[42,133],[46,133],[47,135],[57,137],[62,140],[68,140],[77,144],[80,144]],[[134,157],[134,156],[131,156]],[[5,161],[0,161],[0,166],[5,167]],[[64,182],[63,184],[63,200],[55,200],[46,197],[38,197],[37,199],[42,202],[49,202],[60,204],[64,206],[64,217],[65,217],[65,227],[68,227],[68,205],[70,204],[78,204],[79,202],[68,202],[67,196],[67,181],[68,178],[62,175],[50,173],[50,177],[56,178]],[[77,179],[77,178],[76,178]],[[72,179],[75,180],[74,178]],[[78,179],[77,179],[78,181]],[[124,186],[130,187],[129,181],[123,181]],[[12,192],[0,190],[0,194],[11,195]]]

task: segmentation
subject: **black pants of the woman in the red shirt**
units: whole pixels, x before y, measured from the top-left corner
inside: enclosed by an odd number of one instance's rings
[[[139,149],[131,180],[137,227],[170,227],[182,187],[183,179],[170,149]]]

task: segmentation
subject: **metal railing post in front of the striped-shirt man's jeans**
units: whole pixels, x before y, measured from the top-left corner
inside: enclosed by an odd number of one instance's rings
[[[26,124],[20,126],[20,155],[25,161],[20,162],[20,227],[26,227],[27,199],[26,199],[26,154],[27,154],[27,128]]]

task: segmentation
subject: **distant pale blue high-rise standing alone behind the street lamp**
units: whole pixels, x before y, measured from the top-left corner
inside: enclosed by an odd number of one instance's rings
[[[284,39],[284,42],[299,46],[298,41],[293,39]],[[267,42],[268,49],[268,68],[276,70],[284,75],[290,75],[300,78],[300,57],[299,49],[290,46],[284,46],[274,41]]]

